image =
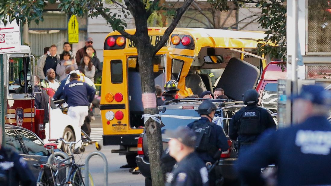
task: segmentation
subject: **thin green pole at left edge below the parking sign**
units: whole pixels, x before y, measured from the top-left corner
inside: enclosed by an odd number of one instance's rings
[[[3,69],[3,54],[0,54],[0,119],[2,128],[2,145],[5,145],[5,80]]]

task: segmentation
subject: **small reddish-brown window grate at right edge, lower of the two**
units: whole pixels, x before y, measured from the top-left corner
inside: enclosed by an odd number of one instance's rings
[[[307,66],[307,79],[331,79],[331,65]]]

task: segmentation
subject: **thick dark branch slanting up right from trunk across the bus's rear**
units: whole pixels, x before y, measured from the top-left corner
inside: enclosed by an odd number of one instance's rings
[[[172,19],[171,24],[166,29],[165,33],[163,34],[162,39],[160,42],[154,47],[154,55],[163,47],[163,45],[166,43],[166,41],[169,39],[169,36],[171,32],[175,29],[177,26],[180,18],[183,16],[184,12],[188,9],[188,7],[192,4],[194,0],[186,0],[183,6],[177,9],[175,16]]]

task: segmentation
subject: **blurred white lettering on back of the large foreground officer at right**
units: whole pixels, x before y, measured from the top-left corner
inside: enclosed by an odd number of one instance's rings
[[[331,148],[331,131],[299,130],[295,144],[304,154],[329,155]]]

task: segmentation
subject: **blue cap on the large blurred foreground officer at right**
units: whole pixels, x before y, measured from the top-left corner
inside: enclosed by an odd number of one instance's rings
[[[299,95],[291,95],[290,99],[305,99],[314,104],[331,105],[331,93],[320,85],[303,85]]]

